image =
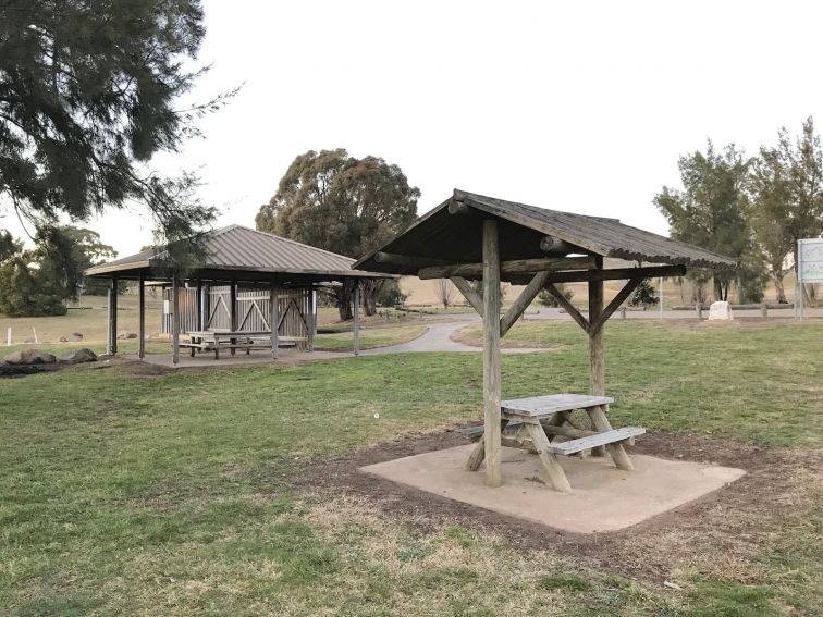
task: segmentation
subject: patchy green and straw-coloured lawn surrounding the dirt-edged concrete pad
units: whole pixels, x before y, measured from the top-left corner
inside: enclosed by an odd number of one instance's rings
[[[505,356],[504,396],[586,391],[575,324],[518,324],[509,336],[554,350]],[[822,337],[818,323],[610,323],[615,423],[811,460],[823,449]],[[480,386],[470,354],[0,380],[0,614],[823,613],[819,470],[756,519],[751,558],[733,568],[718,545],[663,572],[681,591],[300,480],[316,457],[479,419]]]

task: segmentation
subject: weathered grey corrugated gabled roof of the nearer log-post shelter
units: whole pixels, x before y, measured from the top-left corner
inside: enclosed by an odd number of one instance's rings
[[[465,203],[482,215],[450,214],[449,206],[453,202]],[[374,259],[378,251],[458,263],[480,262],[483,218],[499,221],[500,252],[504,261],[545,257],[540,240],[552,236],[574,245],[574,252],[586,255],[698,268],[736,267],[736,262],[725,256],[625,225],[617,219],[548,210],[455,189],[453,197],[353,268],[416,273],[414,266],[378,263]]]

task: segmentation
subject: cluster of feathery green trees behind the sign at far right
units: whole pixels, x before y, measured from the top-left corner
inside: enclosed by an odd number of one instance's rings
[[[735,287],[741,303],[758,303],[771,280],[777,301],[786,303],[785,276],[797,274],[797,240],[823,234],[823,150],[814,121],[799,136],[784,127],[777,143],[747,157],[734,144],[721,151],[681,157],[681,189],[663,187],[654,205],[666,217],[672,237],[732,257],[735,271],[693,269],[693,300],[727,300]],[[807,300],[815,288],[804,285]]]

